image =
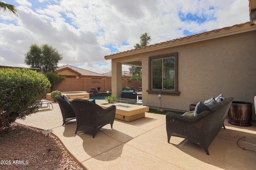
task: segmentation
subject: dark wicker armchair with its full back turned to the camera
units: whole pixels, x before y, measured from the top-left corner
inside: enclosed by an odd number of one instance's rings
[[[113,129],[113,123],[116,115],[116,106],[110,106],[103,109],[99,105],[88,100],[74,99],[70,102],[76,113],[76,132],[86,131],[92,133],[92,137],[100,128],[110,123]]]

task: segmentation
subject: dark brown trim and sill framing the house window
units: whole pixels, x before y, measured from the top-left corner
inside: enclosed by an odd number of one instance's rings
[[[174,90],[161,90],[161,95],[172,95],[172,96],[180,96],[180,92],[178,90],[178,53],[168,53],[164,55],[156,55],[152,57],[148,57],[148,85],[149,89],[146,90],[148,94],[158,94],[159,90],[152,90],[151,89],[151,76],[152,76],[152,66],[151,66],[151,61],[152,59],[161,59],[161,58],[166,58],[166,57],[175,57],[175,81],[174,81]]]

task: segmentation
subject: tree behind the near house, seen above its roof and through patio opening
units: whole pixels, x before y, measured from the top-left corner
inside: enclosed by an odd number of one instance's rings
[[[134,45],[134,48],[145,47],[148,45],[150,40],[151,40],[150,35],[148,33],[144,33],[140,36],[140,44],[136,43]],[[132,73],[132,78],[129,80],[129,82],[131,81],[142,82],[142,73],[141,73],[140,67],[130,66],[129,71]]]

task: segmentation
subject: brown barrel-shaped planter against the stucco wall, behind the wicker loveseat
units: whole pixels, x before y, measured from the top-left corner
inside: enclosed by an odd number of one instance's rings
[[[228,123],[236,126],[251,126],[252,103],[233,101],[228,111]]]

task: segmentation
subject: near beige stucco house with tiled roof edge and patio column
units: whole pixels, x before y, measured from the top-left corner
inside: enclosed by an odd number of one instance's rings
[[[112,60],[112,92],[122,92],[122,64],[142,67],[144,105],[188,111],[190,104],[223,94],[254,102],[256,95],[256,22],[105,56]],[[156,81],[155,61],[173,59],[169,82]],[[153,63],[153,64],[152,64]],[[165,74],[163,72],[163,74]],[[162,86],[157,86],[158,83]],[[161,88],[161,101],[158,99]],[[253,113],[254,108],[253,108]],[[255,119],[255,114],[253,114]]]

